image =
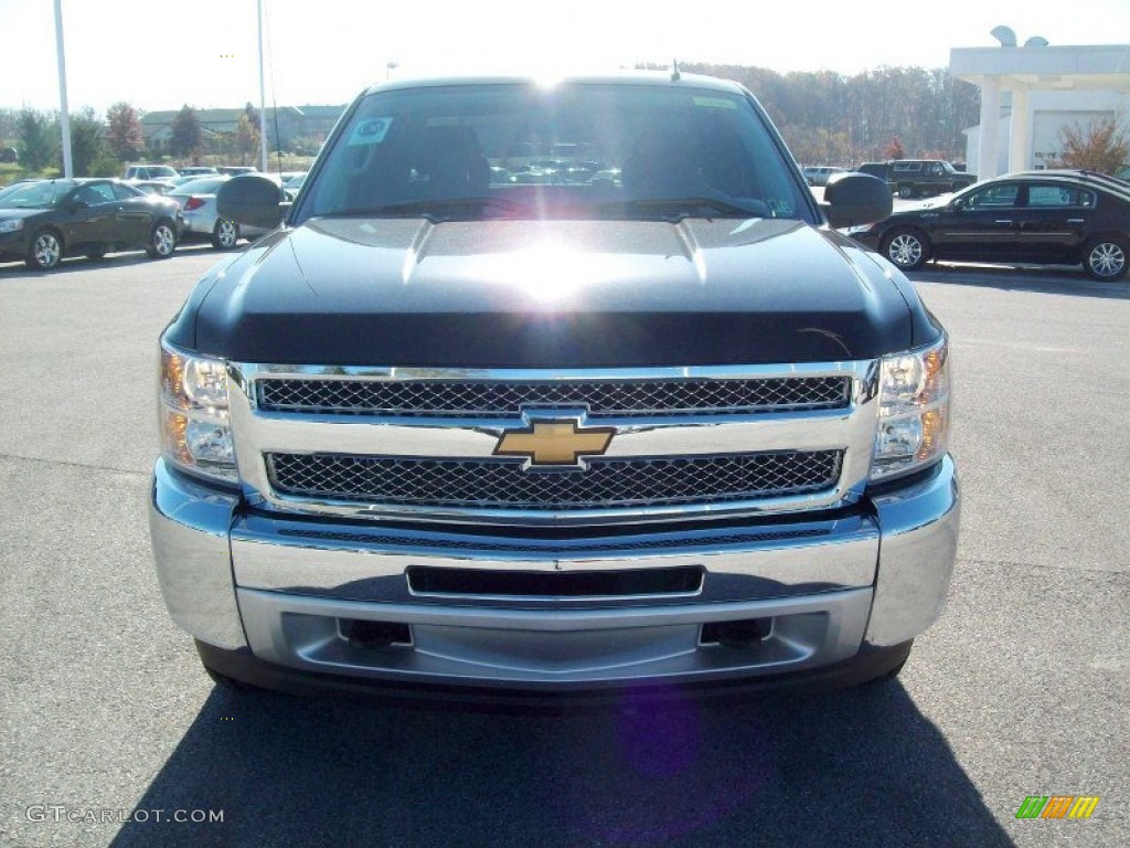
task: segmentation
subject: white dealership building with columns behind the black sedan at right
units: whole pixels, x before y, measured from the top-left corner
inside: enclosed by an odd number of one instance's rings
[[[1064,127],[1130,121],[1130,44],[1017,46],[1007,27],[998,47],[957,47],[949,72],[981,89],[981,124],[965,131],[968,170],[981,179],[1044,167]]]

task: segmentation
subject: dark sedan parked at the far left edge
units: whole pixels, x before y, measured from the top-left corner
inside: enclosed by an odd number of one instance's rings
[[[0,197],[0,256],[36,270],[50,270],[66,256],[102,259],[130,248],[167,259],[181,226],[175,200],[121,180],[38,180]]]

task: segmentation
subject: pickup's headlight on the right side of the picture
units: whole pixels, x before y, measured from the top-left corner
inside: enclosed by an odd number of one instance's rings
[[[879,373],[879,430],[871,479],[916,471],[946,452],[949,441],[949,348],[885,356]]]

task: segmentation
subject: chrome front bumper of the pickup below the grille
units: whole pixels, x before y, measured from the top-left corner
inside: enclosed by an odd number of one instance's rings
[[[724,529],[568,540],[389,529],[243,511],[234,494],[158,462],[154,554],[174,621],[208,644],[312,673],[420,684],[568,690],[626,682],[808,672],[893,646],[939,615],[957,545],[959,497],[946,458],[927,479],[851,516],[781,517]],[[524,574],[701,569],[692,591],[502,597],[421,591],[409,566]],[[733,647],[704,625],[757,620]],[[407,625],[381,647],[348,622]]]

